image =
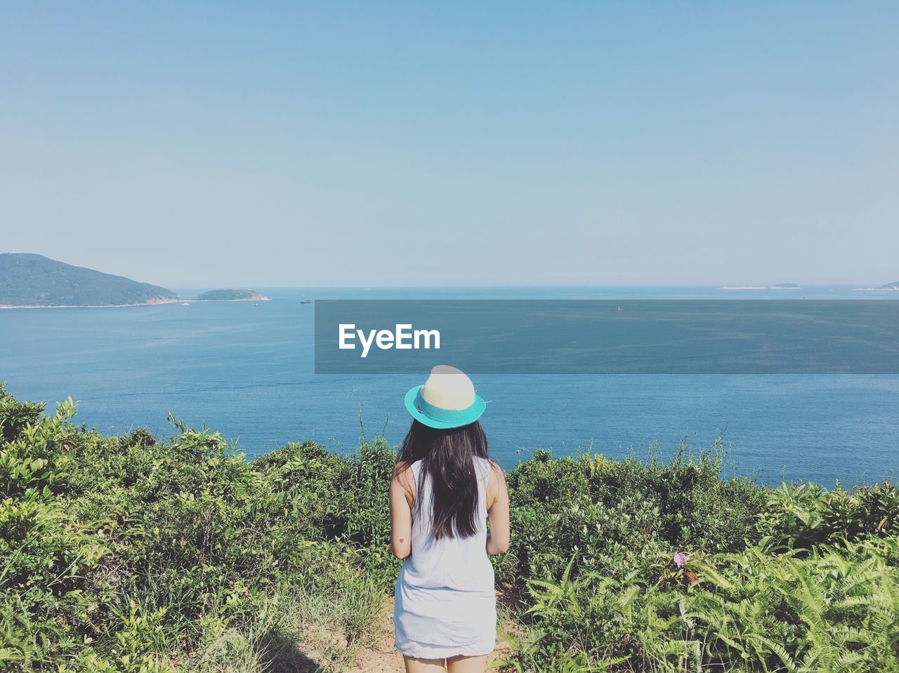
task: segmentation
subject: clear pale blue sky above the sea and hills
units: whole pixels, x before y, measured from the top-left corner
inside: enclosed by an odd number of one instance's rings
[[[899,280],[899,3],[0,4],[0,252],[168,287]]]

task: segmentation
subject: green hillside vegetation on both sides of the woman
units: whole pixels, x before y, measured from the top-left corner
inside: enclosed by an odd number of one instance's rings
[[[373,637],[398,570],[382,439],[247,461],[176,419],[157,442],[41,410],[0,388],[0,669],[341,670]],[[899,492],[721,466],[713,447],[513,470],[506,669],[899,670]]]

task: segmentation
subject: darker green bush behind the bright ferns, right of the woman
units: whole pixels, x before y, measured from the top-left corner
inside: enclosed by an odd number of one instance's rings
[[[516,563],[503,565],[502,579],[559,577],[573,557],[575,574],[619,576],[651,573],[665,549],[742,549],[761,536],[755,519],[767,491],[745,478],[723,480],[722,463],[717,446],[699,455],[681,447],[668,463],[535,452],[509,475]]]

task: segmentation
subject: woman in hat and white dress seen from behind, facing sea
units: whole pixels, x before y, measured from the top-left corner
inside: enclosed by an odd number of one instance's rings
[[[405,395],[413,421],[390,482],[390,542],[403,559],[394,624],[408,673],[484,673],[496,644],[487,554],[509,548],[509,491],[487,459],[485,406],[455,367]]]

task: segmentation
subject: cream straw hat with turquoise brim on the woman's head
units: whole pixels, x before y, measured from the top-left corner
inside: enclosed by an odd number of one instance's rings
[[[474,423],[487,406],[475,394],[475,385],[464,372],[438,365],[424,385],[405,394],[405,408],[415,421],[431,428],[460,428]]]

